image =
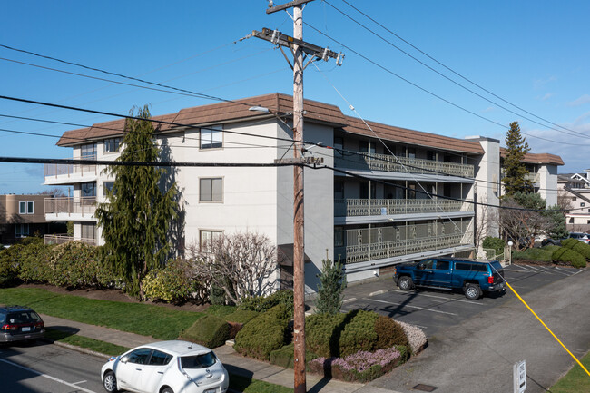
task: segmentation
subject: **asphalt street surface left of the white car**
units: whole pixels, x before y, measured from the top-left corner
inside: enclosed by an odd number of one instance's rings
[[[105,359],[39,341],[0,347],[0,391],[5,393],[103,393]]]

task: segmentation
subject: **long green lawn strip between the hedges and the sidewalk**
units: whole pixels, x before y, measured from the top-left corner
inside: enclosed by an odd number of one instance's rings
[[[176,339],[202,317],[200,312],[151,304],[93,300],[37,288],[0,289],[0,304],[27,306],[40,314],[129,331],[155,339]]]

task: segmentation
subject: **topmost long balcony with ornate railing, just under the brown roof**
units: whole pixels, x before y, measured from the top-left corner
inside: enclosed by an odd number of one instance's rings
[[[369,154],[359,152],[358,154],[335,157],[335,165],[338,168],[357,169],[363,171],[382,172],[409,172],[420,174],[443,174],[473,178],[473,165],[423,160],[418,158],[395,158],[389,154]]]

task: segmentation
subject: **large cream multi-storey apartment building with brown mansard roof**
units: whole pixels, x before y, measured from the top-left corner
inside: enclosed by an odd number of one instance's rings
[[[251,106],[270,113],[250,111]],[[337,106],[309,100],[304,109],[303,139],[331,147],[314,147],[305,155],[347,171],[305,169],[308,292],[317,289],[316,275],[327,256],[345,262],[347,279],[356,281],[399,262],[474,251],[475,184],[479,198],[497,203],[498,141],[462,140],[372,122],[369,129]],[[290,142],[272,139],[292,138],[290,124],[282,120],[290,122],[290,112],[292,98],[273,93],[153,119],[185,124],[154,123],[165,161],[272,163],[293,156]],[[122,148],[123,124],[117,120],[66,132],[57,144],[73,148],[74,158],[113,160]],[[74,239],[102,242],[93,211],[113,184],[103,169],[45,165],[45,184],[74,186],[72,198],[56,201],[47,211],[48,220],[74,221]],[[280,278],[290,281],[291,167],[176,167],[171,180],[182,192],[187,244],[206,245],[223,232],[261,232],[287,256]],[[182,249],[185,244],[176,246]]]

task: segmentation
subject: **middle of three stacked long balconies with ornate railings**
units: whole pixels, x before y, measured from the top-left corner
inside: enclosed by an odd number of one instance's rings
[[[473,211],[473,203],[445,199],[345,199],[334,200],[335,217]]]

